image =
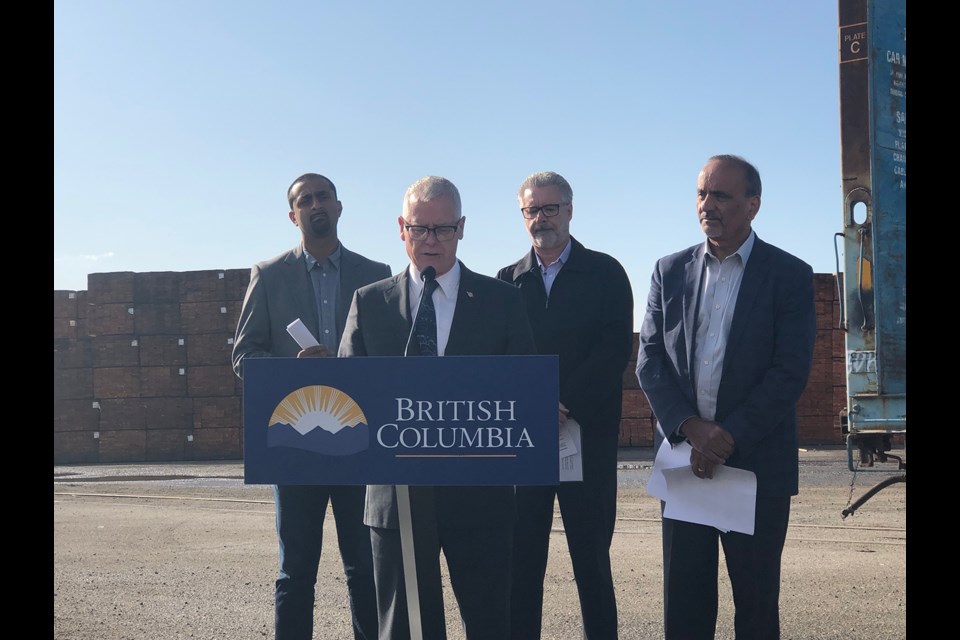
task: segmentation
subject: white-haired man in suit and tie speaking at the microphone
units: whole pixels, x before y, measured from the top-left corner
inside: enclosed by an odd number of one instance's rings
[[[439,284],[429,298],[436,312],[436,355],[535,353],[519,290],[476,274],[457,260],[466,218],[452,182],[429,176],[413,183],[397,222],[410,266],[357,290],[340,343],[341,356],[406,355],[418,309],[428,306],[420,302],[426,286],[421,276],[426,272],[427,280],[432,280],[431,270]],[[433,345],[428,350],[434,351]],[[411,488],[411,503],[413,489],[424,488]],[[420,494],[421,503],[426,503],[426,513],[432,512],[436,525],[432,539],[426,531],[426,541],[421,526],[416,547],[423,637],[446,638],[439,571],[442,549],[467,640],[503,640],[509,634],[513,487],[428,489]],[[423,513],[414,511],[415,527]],[[380,638],[406,640],[410,621],[393,486],[367,487],[364,522],[371,527]]]

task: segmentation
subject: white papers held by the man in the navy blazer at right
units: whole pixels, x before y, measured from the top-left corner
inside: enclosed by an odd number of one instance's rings
[[[712,479],[698,478],[690,451],[687,442],[671,447],[667,440],[657,451],[647,493],[664,501],[663,517],[753,535],[756,474],[718,465]]]

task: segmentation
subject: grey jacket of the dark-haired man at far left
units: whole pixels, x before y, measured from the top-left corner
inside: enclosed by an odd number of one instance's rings
[[[300,346],[287,333],[287,325],[297,318],[314,336],[320,335],[316,296],[305,259],[303,245],[298,245],[251,269],[233,344],[233,370],[240,378],[245,358],[295,357],[300,352]],[[368,260],[340,245],[336,316],[341,335],[354,291],[389,277],[390,267],[386,264]]]

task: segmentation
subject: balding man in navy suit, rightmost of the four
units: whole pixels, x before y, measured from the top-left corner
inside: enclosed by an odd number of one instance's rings
[[[780,557],[799,478],[796,403],[816,315],[810,266],[752,230],[760,192],[743,158],[709,159],[697,182],[707,240],[657,262],[640,330],[637,378],[671,445],[692,445],[694,475],[710,480],[725,464],[757,477],[752,536],[663,519],[668,640],[714,637],[718,538],[737,640],[780,637]]]

